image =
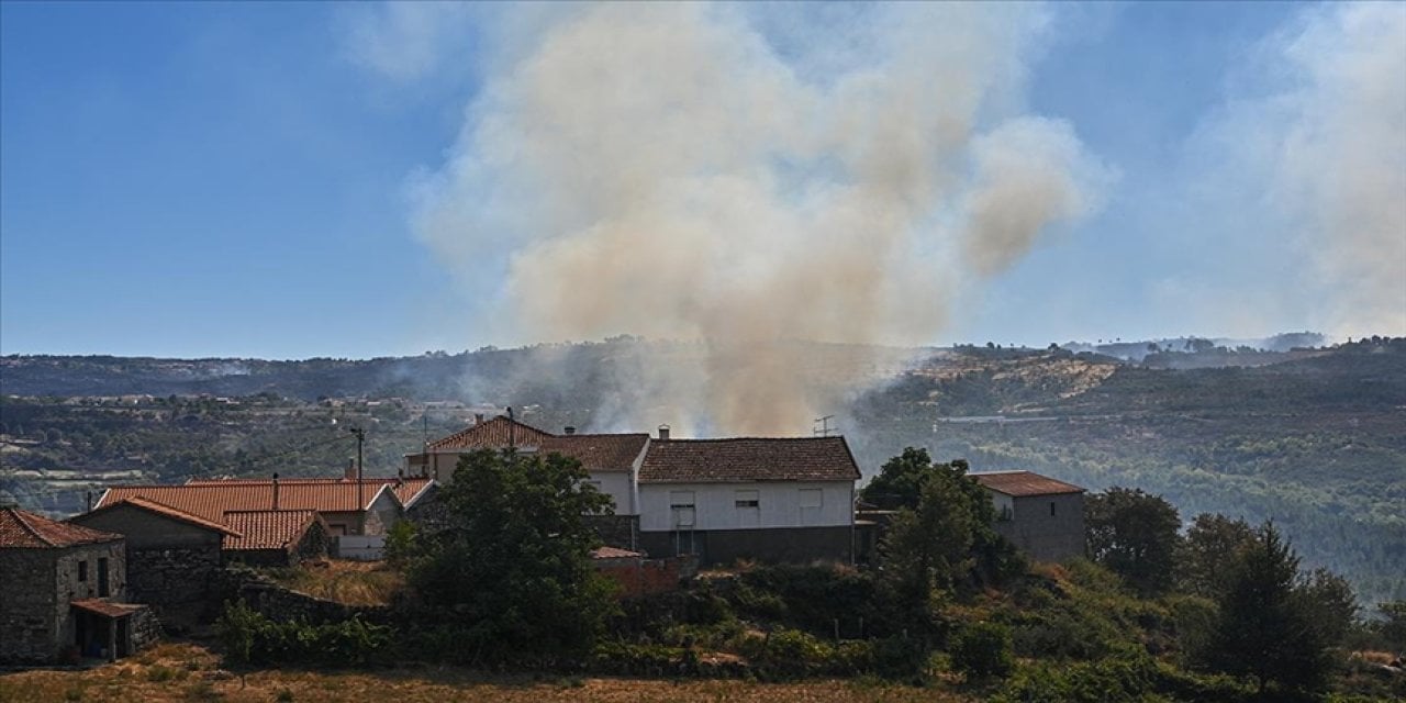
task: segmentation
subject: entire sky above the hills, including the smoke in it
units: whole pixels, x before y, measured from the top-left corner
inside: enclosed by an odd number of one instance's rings
[[[1406,335],[1403,75],[1391,3],[6,1],[0,353]]]

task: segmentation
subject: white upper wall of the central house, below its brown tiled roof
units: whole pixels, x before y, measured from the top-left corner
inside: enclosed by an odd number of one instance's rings
[[[853,522],[852,481],[770,481],[747,484],[641,484],[640,530],[672,530],[675,498],[692,494],[695,530],[845,526]],[[675,494],[679,494],[675,496]],[[756,496],[756,508],[738,501]],[[801,506],[801,501],[820,506]]]

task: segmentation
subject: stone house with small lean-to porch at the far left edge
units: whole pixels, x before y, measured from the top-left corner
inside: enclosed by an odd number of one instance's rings
[[[115,659],[136,651],[159,627],[125,595],[121,534],[0,508],[0,661]]]

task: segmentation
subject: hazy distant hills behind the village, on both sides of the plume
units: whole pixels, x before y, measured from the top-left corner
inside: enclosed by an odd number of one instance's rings
[[[1274,340],[1251,340],[1274,342]],[[905,446],[1166,495],[1184,520],[1272,517],[1312,565],[1364,600],[1406,595],[1406,339],[1331,347],[1303,336],[1010,349],[873,349],[792,342],[866,475]],[[1152,352],[1149,344],[1156,344]],[[1140,363],[1115,354],[1136,357]],[[52,512],[114,481],[328,474],[367,432],[367,471],[394,474],[426,436],[513,406],[543,427],[689,427],[631,384],[688,366],[702,343],[599,343],[302,361],[0,359],[0,489]],[[337,419],[333,425],[330,419]],[[631,420],[648,418],[648,420]],[[790,419],[810,429],[813,418]],[[707,420],[685,434],[710,436]],[[67,470],[67,471],[66,471]]]

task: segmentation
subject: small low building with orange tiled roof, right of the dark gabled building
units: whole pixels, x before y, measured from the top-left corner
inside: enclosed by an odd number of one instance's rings
[[[252,567],[292,567],[328,555],[328,523],[316,510],[231,510],[222,548],[225,561]]]

